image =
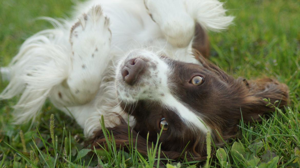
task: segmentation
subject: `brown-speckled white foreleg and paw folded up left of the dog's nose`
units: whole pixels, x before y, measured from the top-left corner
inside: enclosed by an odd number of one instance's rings
[[[99,90],[102,73],[110,59],[109,25],[109,19],[98,5],[82,14],[71,28],[72,70],[67,85],[78,103],[89,102]]]

